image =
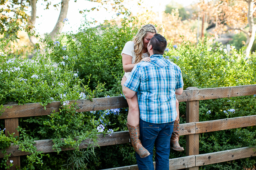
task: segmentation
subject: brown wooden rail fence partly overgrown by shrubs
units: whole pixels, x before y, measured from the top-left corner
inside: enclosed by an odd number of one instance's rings
[[[187,168],[188,170],[198,170],[198,166],[256,156],[256,151],[253,150],[253,148],[249,147],[199,155],[200,133],[256,125],[256,115],[199,122],[199,100],[229,98],[254,94],[256,94],[256,84],[204,89],[188,87],[186,90],[183,91],[181,95],[177,95],[177,99],[179,102],[186,102],[186,123],[180,124],[180,135],[186,135],[187,156],[170,159],[170,170],[184,168]],[[79,107],[79,112],[128,107],[128,104],[123,96],[110,98],[95,98],[93,99],[93,101],[86,99],[77,100],[76,103]],[[5,119],[6,131],[18,135],[18,131],[16,130],[18,126],[18,118],[50,115],[52,111],[59,110],[60,102],[52,102],[46,106],[46,109],[44,109],[44,107],[41,106],[39,103],[29,103],[25,105],[5,105],[5,107],[7,106],[12,106],[12,108],[5,108],[5,111],[0,116],[0,119]],[[97,136],[99,146],[129,143],[128,131],[116,132],[113,133],[111,136],[106,135],[105,137],[103,134]],[[86,148],[88,146],[87,143],[89,143],[89,139],[82,141],[79,148]],[[42,151],[43,153],[54,152],[54,150],[52,149],[53,143],[50,139],[35,141],[34,146],[37,147],[37,151]],[[14,166],[11,167],[12,170],[16,170],[15,165],[20,166],[20,156],[30,154],[28,152],[22,152],[21,150],[18,150],[18,148],[19,146],[12,145],[7,149],[7,153],[11,153],[11,158],[9,160],[14,161]],[[74,148],[62,148],[62,150],[73,149]],[[4,155],[0,154],[0,158],[3,157]],[[138,166],[132,165],[108,170],[128,169],[138,170]]]

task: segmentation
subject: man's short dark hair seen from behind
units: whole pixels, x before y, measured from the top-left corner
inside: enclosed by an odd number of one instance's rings
[[[151,39],[149,45],[152,45],[153,54],[163,54],[167,46],[165,37],[156,33]]]

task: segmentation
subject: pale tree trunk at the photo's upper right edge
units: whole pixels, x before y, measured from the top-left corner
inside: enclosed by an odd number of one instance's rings
[[[255,40],[255,33],[256,33],[256,25],[254,24],[253,21],[253,12],[255,11],[255,9],[253,9],[253,5],[254,2],[252,0],[247,1],[248,3],[248,13],[247,13],[247,18],[248,18],[248,24],[249,24],[249,33],[247,36],[247,40],[246,43],[247,44],[247,48],[246,48],[246,57],[248,57],[251,53],[251,49],[252,49],[252,45],[253,42]]]

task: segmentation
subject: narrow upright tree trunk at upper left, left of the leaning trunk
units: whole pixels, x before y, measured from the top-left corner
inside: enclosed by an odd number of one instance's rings
[[[37,0],[30,0],[30,6],[31,6],[31,18],[30,18],[30,27],[31,29],[29,30],[30,33],[34,32],[34,25],[35,25],[35,19],[37,18],[36,13],[37,13]],[[37,43],[37,38],[34,36],[29,36],[29,40],[31,43],[34,45]]]

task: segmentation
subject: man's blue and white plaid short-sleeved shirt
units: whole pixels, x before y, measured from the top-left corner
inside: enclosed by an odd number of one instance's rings
[[[150,123],[167,123],[176,119],[175,89],[183,86],[180,67],[155,54],[151,62],[138,63],[124,86],[136,91],[140,118]]]

